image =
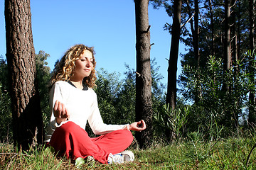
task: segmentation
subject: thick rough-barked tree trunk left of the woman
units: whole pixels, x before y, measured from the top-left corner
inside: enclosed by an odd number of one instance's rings
[[[30,1],[6,0],[5,21],[14,146],[28,149],[43,142]]]

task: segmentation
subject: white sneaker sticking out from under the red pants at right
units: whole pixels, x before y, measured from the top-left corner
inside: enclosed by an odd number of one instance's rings
[[[134,161],[134,153],[130,150],[125,150],[118,154],[109,154],[108,157],[108,164],[116,163],[116,164],[122,164],[124,162],[132,162]]]

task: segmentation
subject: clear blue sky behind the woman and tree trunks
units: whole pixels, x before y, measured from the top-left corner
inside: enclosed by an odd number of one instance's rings
[[[96,69],[123,73],[124,63],[136,68],[135,11],[133,0],[31,0],[33,44],[36,53],[50,55],[48,66],[72,45],[82,43],[95,47]],[[171,35],[164,30],[172,23],[164,8],[149,5],[151,25],[151,58],[156,58],[159,73],[167,82]],[[4,1],[0,4],[0,55],[6,54]],[[179,52],[183,52],[181,46]],[[179,57],[180,60],[180,57]],[[181,68],[178,67],[178,74]]]

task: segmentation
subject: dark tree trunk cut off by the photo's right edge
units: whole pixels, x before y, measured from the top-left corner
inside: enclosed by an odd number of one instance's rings
[[[254,30],[255,30],[255,18],[254,18],[254,13],[255,13],[255,0],[249,0],[249,19],[250,19],[250,34],[249,34],[249,38],[250,38],[250,51],[251,51],[251,56],[254,57],[253,55],[253,50],[254,50]],[[253,82],[255,84],[255,72],[253,71],[253,67],[254,67],[254,60],[255,58],[250,58],[250,81]],[[250,123],[250,125],[254,124],[256,125],[256,114],[255,114],[255,93],[250,90],[249,91],[249,118],[248,118],[248,123]]]

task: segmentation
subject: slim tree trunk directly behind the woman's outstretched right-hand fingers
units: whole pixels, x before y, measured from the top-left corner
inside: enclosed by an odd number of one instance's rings
[[[144,119],[146,130],[136,132],[135,136],[139,147],[151,145],[152,130],[152,103],[151,103],[151,70],[150,70],[150,31],[149,31],[149,0],[134,0],[136,18],[136,120]]]

